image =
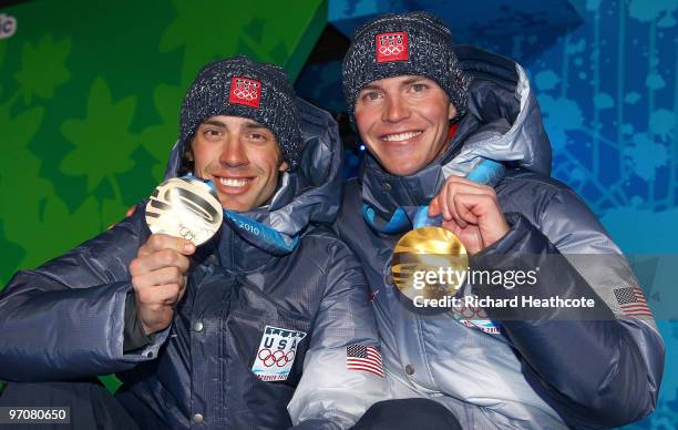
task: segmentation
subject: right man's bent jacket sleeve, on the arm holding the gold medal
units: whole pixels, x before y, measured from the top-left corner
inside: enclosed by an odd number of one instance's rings
[[[651,316],[627,316],[615,289],[638,287],[617,246],[571,190],[548,201],[535,227],[506,214],[511,231],[472,258],[503,269],[540,267],[536,284],[513,290],[477,286],[495,297],[593,298],[593,308],[495,308],[531,386],[574,427],[636,421],[657,401],[664,342]]]

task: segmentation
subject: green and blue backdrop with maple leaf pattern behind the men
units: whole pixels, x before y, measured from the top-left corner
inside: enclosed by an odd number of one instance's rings
[[[17,21],[11,37],[0,32],[0,288],[150,194],[183,92],[205,62],[235,53],[275,62],[300,95],[339,113],[340,53],[322,45],[328,31],[336,41],[378,13],[430,10],[458,42],[528,71],[554,176],[630,256],[667,344],[657,411],[628,428],[678,428],[678,0],[9,3],[0,9]],[[362,151],[346,141],[350,175]]]

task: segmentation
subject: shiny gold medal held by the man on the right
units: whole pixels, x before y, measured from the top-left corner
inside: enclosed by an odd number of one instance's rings
[[[442,227],[407,233],[393,248],[393,283],[408,298],[442,299],[463,285],[469,255],[461,240]]]

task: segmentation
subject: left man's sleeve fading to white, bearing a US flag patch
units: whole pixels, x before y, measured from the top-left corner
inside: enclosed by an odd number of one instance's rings
[[[347,347],[378,350],[379,337],[362,269],[343,243],[335,244],[304,373],[287,408],[295,429],[349,428],[388,396],[382,376],[347,368]]]

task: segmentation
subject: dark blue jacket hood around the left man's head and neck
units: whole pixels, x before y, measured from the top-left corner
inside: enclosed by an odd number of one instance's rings
[[[281,175],[278,190],[269,204],[239,214],[286,237],[300,235],[310,223],[333,222],[341,197],[342,152],[337,123],[328,112],[301,99],[297,99],[296,104],[304,141],[299,167]],[[165,180],[177,176],[182,167],[182,155],[177,141],[172,149]],[[222,228],[222,236],[227,229]],[[267,249],[265,244],[257,243],[256,237],[243,236],[240,239]],[[244,247],[237,247],[239,252],[245,250]]]

